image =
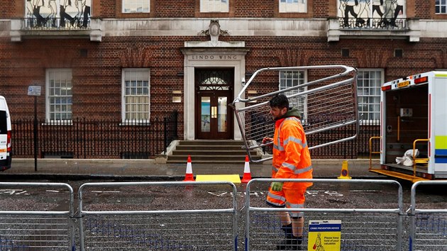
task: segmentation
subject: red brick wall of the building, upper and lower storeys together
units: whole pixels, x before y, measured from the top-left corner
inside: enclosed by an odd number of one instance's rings
[[[4,1],[0,18],[23,16],[25,1]],[[122,14],[121,1],[92,0],[92,16],[101,18],[326,18],[336,13],[336,1],[309,0],[309,13],[279,14],[278,0],[230,1],[230,13],[198,13],[199,0],[151,1],[151,13]],[[335,5],[334,5],[335,4]],[[446,18],[434,14],[434,1],[407,1],[409,16]],[[223,27],[223,29],[225,29]],[[13,119],[33,118],[33,98],[27,96],[29,85],[45,87],[45,69],[71,68],[73,75],[73,116],[75,118],[114,119],[121,121],[121,71],[126,67],[150,68],[150,111],[153,117],[179,111],[178,134],[183,135],[182,103],[172,103],[172,91],[183,91],[184,41],[209,40],[192,37],[103,37],[101,43],[84,39],[25,38],[12,43],[0,38],[0,94],[8,98]],[[326,37],[254,37],[221,36],[223,41],[245,41],[249,49],[245,72],[263,67],[292,65],[349,65],[359,68],[385,69],[385,81],[410,74],[447,68],[447,38],[421,38],[418,43],[407,40],[371,40],[341,38],[328,43]],[[341,50],[348,49],[349,57]],[[394,57],[394,50],[403,50],[403,57]],[[81,50],[87,51],[82,57]],[[143,60],[133,60],[133,58]],[[326,72],[310,71],[309,80],[326,76]],[[258,94],[277,88],[277,74],[267,73],[257,79]],[[45,89],[38,97],[38,116],[45,117]]]

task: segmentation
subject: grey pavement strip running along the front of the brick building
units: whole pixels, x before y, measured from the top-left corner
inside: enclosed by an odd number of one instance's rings
[[[380,179],[380,174],[369,172],[369,159],[347,160],[348,177],[353,179]],[[271,162],[270,162],[271,163]],[[314,178],[333,179],[341,176],[343,160],[312,160]],[[372,160],[373,167],[379,161]],[[126,179],[126,180],[172,180],[184,179],[187,161],[184,164],[165,164],[160,160],[102,160],[102,159],[34,159],[13,158],[11,169],[0,172],[0,181],[9,179]],[[244,164],[194,164],[192,173],[239,174],[242,178]],[[271,164],[250,164],[250,175],[255,178],[270,178]]]

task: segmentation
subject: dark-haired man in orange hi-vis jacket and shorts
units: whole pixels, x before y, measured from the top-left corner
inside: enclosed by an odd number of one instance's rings
[[[289,108],[284,94],[277,94],[269,101],[270,115],[275,121],[274,138],[265,137],[263,143],[273,141],[274,179],[311,179],[312,165],[306,135],[299,121],[299,111]],[[304,208],[304,194],[311,182],[272,182],[267,194],[267,204],[273,207]],[[301,250],[304,228],[302,212],[279,213],[285,240],[277,250]],[[291,219],[292,218],[292,219]]]

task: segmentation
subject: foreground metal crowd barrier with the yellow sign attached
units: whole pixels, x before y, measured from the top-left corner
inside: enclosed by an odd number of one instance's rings
[[[247,184],[246,194],[250,193],[253,184],[274,181],[314,182],[314,185],[307,190],[305,208],[299,209],[299,211],[304,213],[304,239],[301,250],[308,250],[309,243],[313,250],[317,248],[318,242],[316,242],[315,238],[309,238],[309,225],[311,222],[331,222],[334,220],[341,221],[341,231],[339,231],[341,237],[338,238],[341,250],[402,250],[402,218],[404,213],[402,208],[402,186],[399,182],[393,180],[360,179],[252,179]],[[368,206],[361,208],[363,201],[354,201],[354,199],[351,199],[353,201],[331,199],[321,202],[321,196],[312,194],[314,193],[312,189],[318,189],[318,184],[321,183],[333,184],[333,186],[337,186],[337,189],[346,192],[349,191],[351,186],[368,188],[379,184],[395,185],[397,186],[395,190],[397,199],[391,202],[391,204],[395,204],[394,206],[387,204],[383,208]],[[265,184],[265,187],[267,186],[268,184]],[[369,191],[368,193],[373,193],[373,197],[357,197],[365,201],[380,199],[377,198],[374,191]],[[250,196],[247,196],[245,199],[245,250],[275,250],[277,242],[284,238],[277,213],[281,211],[297,211],[297,209],[268,207],[265,205],[265,198],[259,201],[250,200],[253,200],[250,199]],[[337,204],[333,204],[331,208],[323,207],[332,201],[342,206],[347,206],[351,203],[352,207],[337,208]],[[251,206],[252,203],[257,203],[258,206]],[[336,243],[335,240],[332,244]],[[326,246],[326,248],[328,247]]]

